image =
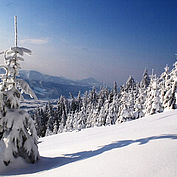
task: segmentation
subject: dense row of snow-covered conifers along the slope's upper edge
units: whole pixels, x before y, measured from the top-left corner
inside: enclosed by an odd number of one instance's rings
[[[172,70],[168,66],[157,77],[145,69],[142,80],[136,82],[129,76],[119,89],[93,88],[70,99],[61,96],[57,106],[50,102],[32,113],[37,134],[52,134],[81,130],[94,126],[107,126],[138,119],[164,110],[177,108],[177,62]]]

